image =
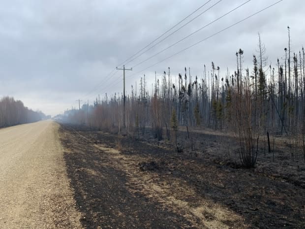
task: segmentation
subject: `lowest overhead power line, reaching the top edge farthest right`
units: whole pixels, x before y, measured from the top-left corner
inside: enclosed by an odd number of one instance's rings
[[[190,45],[190,46],[188,46],[188,47],[186,47],[186,48],[180,50],[179,52],[177,52],[177,53],[175,53],[175,54],[173,54],[173,55],[171,55],[171,56],[169,56],[169,57],[167,57],[167,58],[165,58],[165,59],[163,59],[163,60],[161,60],[161,61],[159,61],[159,62],[153,64],[153,65],[150,65],[150,66],[148,66],[148,67],[146,67],[146,68],[144,68],[144,69],[142,69],[142,70],[140,70],[140,71],[138,71],[138,72],[136,72],[136,73],[134,73],[134,74],[131,74],[130,77],[131,77],[131,76],[134,76],[135,74],[138,74],[138,73],[140,73],[140,72],[142,72],[142,71],[145,71],[145,70],[147,70],[148,68],[150,68],[150,67],[152,67],[152,66],[154,66],[154,65],[160,64],[160,63],[162,63],[163,61],[166,61],[166,60],[168,60],[168,59],[170,59],[170,58],[172,58],[172,57],[174,57],[174,56],[176,56],[176,55],[178,55],[178,54],[180,54],[180,53],[182,53],[182,52],[184,52],[184,51],[186,51],[186,50],[188,50],[188,49],[190,49],[190,48],[192,48],[192,47],[194,47],[194,46],[196,46],[197,44],[202,43],[203,41],[205,41],[205,40],[207,40],[207,39],[209,39],[209,38],[211,38],[211,37],[213,37],[213,36],[215,36],[215,35],[217,35],[217,34],[219,34],[219,33],[222,33],[223,31],[226,31],[226,30],[230,29],[231,27],[236,26],[237,24],[240,24],[240,23],[244,22],[245,20],[247,20],[247,19],[249,19],[249,18],[255,16],[256,14],[261,13],[262,11],[264,11],[264,10],[266,10],[266,9],[268,9],[268,8],[270,8],[270,7],[274,6],[274,5],[276,5],[276,4],[278,4],[278,3],[281,2],[281,1],[283,1],[283,0],[279,0],[279,1],[274,2],[273,4],[271,4],[271,5],[269,5],[269,6],[265,7],[265,8],[263,8],[263,9],[257,11],[256,13],[253,13],[253,14],[251,14],[250,16],[248,16],[248,17],[246,17],[246,18],[244,18],[244,19],[242,19],[242,20],[240,20],[240,21],[238,21],[238,22],[232,24],[231,26],[228,26],[228,27],[226,27],[226,28],[224,28],[224,29],[218,31],[217,33],[214,33],[214,34],[212,34],[211,36],[208,36],[208,37],[206,37],[205,39],[200,40],[200,41],[198,41],[198,42],[196,42],[196,43],[194,43],[194,44],[192,44],[192,45]]]

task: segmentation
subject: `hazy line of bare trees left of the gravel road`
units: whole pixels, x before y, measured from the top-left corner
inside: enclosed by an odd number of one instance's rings
[[[41,111],[33,111],[25,107],[20,100],[12,97],[0,99],[0,128],[33,123],[45,118],[46,115]]]

